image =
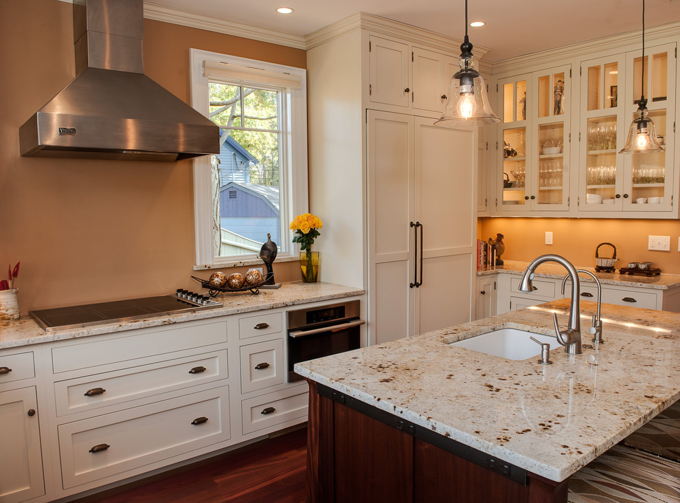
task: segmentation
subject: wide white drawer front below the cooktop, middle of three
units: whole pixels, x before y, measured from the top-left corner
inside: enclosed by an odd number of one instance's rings
[[[59,381],[54,383],[57,415],[95,410],[227,377],[227,350],[222,350]]]

